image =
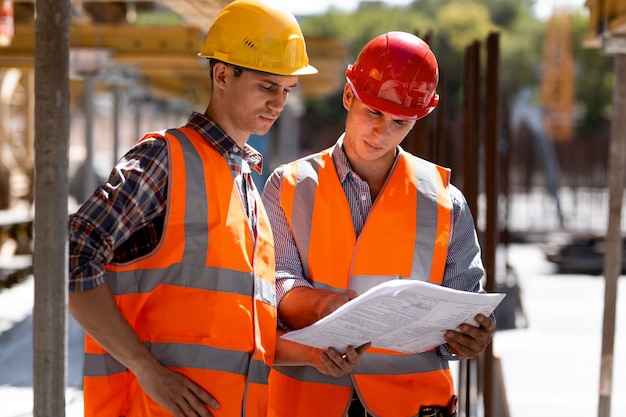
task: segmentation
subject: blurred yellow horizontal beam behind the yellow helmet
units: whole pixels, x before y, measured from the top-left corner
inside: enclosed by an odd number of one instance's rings
[[[208,99],[208,60],[198,57],[204,37],[204,33],[191,26],[70,27],[72,50],[108,50],[110,61],[98,63],[103,72],[116,66],[133,67],[159,98],[180,98],[195,90],[198,100]],[[12,44],[0,48],[0,69],[32,69],[34,39],[35,31],[31,25],[16,25]],[[303,97],[321,97],[342,88],[349,56],[345,42],[330,38],[311,38],[307,39],[307,51],[311,64],[317,67],[319,73],[300,77]]]

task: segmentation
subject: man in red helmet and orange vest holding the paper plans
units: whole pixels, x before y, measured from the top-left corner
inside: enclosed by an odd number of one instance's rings
[[[264,189],[279,333],[308,326],[391,277],[482,291],[472,214],[450,171],[400,147],[439,100],[430,48],[404,32],[378,36],[346,79],[345,133],[331,148],[278,167]],[[269,416],[453,416],[448,360],[478,355],[495,330],[489,317],[476,321],[446,332],[446,344],[427,352],[349,347],[334,369],[308,359],[318,357],[315,348],[279,339]]]

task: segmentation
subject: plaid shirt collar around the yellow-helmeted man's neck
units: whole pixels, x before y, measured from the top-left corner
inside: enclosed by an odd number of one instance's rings
[[[223,156],[228,157],[229,153],[240,155],[248,163],[250,168],[261,174],[263,172],[263,155],[252,146],[246,145],[243,149],[226,134],[208,116],[193,112],[187,120],[187,126],[198,131],[213,147]]]

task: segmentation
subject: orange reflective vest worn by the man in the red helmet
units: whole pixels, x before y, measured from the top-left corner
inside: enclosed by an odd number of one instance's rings
[[[344,290],[351,280],[400,276],[441,284],[451,233],[449,170],[404,151],[392,168],[358,238],[337,177],[333,148],[288,164],[280,202],[316,288]],[[341,417],[356,389],[375,416],[416,416],[424,405],[448,405],[454,383],[437,349],[403,354],[369,349],[351,375],[335,378],[312,366],[275,366],[270,417]]]

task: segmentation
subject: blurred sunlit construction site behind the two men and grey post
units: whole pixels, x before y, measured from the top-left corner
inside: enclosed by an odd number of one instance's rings
[[[264,156],[259,189],[274,167],[321,150],[342,133],[344,71],[365,42],[390,30],[423,37],[439,62],[441,100],[402,146],[451,168],[475,215],[485,259],[496,259],[488,278],[507,297],[486,356],[495,372],[489,390],[495,417],[609,417],[598,412],[607,331],[615,336],[613,380],[602,393],[612,393],[612,416],[623,415],[623,276],[619,290],[606,294],[604,262],[616,248],[606,243],[609,158],[611,129],[626,119],[626,109],[613,101],[620,76],[626,83],[626,74],[615,72],[626,54],[619,49],[626,2],[278,1],[298,17],[320,72],[301,77],[266,136],[250,138]],[[70,211],[143,133],[204,111],[209,79],[196,54],[228,1],[71,3]],[[598,14],[600,3],[606,16]],[[34,4],[0,0],[0,417],[30,416],[33,404]],[[600,22],[608,28],[606,44]],[[611,45],[607,53],[603,48]],[[498,154],[489,170],[487,131],[494,127]],[[493,178],[495,193],[487,186]],[[496,225],[487,216],[494,206]],[[616,217],[624,236],[624,210]],[[491,254],[486,242],[494,235]],[[608,323],[612,296],[616,313]],[[68,339],[67,415],[80,416],[83,333],[71,318]],[[463,383],[474,391],[467,399],[471,413],[459,417],[483,417],[488,391],[479,380],[464,379],[464,365],[452,365],[459,391]]]

